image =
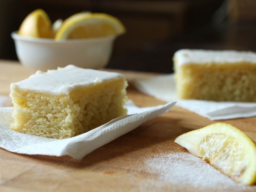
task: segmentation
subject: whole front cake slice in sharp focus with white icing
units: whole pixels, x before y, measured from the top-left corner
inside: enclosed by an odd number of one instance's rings
[[[15,131],[73,137],[126,114],[127,82],[114,72],[68,65],[11,84]]]

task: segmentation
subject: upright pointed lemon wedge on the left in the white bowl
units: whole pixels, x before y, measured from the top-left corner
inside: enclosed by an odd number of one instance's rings
[[[42,9],[36,9],[26,16],[18,34],[27,37],[53,38],[51,25],[47,13]]]

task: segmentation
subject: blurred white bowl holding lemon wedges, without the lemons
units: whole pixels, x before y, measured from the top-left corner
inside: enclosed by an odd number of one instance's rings
[[[21,64],[42,71],[69,64],[91,69],[105,67],[110,59],[116,37],[55,41],[23,37],[16,32],[11,36]]]

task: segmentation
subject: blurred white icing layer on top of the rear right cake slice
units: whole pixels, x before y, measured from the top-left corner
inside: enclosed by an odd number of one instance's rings
[[[256,63],[256,54],[235,50],[180,49],[174,54],[177,66],[205,63]]]

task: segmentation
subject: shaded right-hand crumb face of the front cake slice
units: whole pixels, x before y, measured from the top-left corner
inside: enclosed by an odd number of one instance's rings
[[[81,127],[84,133],[113,118],[125,115],[127,113],[127,109],[124,108],[127,101],[126,87],[126,80],[121,79],[98,83],[93,87],[71,92],[71,99],[81,108],[75,126]]]

